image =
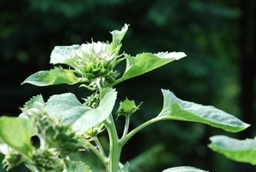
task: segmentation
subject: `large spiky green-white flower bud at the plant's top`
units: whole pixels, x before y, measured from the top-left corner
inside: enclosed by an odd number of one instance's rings
[[[119,72],[113,71],[121,60],[119,57],[120,46],[114,47],[111,43],[84,43],[73,51],[73,58],[65,63],[72,66],[75,72],[86,78],[90,87],[104,86],[104,83],[113,83]],[[99,80],[100,78],[100,80]]]

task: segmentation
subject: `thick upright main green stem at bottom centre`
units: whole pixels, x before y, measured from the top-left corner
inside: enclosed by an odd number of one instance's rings
[[[119,170],[119,158],[121,154],[122,146],[119,145],[119,138],[113,122],[112,114],[108,119],[104,121],[106,128],[108,129],[109,136],[109,157],[108,157],[108,172],[117,172]]]

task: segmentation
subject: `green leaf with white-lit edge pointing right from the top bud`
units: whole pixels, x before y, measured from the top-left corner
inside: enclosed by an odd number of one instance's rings
[[[185,56],[186,54],[180,53],[180,52],[178,53],[166,52],[166,53],[158,53],[158,54],[143,53],[143,54],[137,54],[136,57],[125,54],[125,58],[126,58],[125,73],[121,78],[113,82],[112,85],[120,83],[131,77],[137,77],[146,72],[150,72],[160,66],[164,66],[167,63],[172,62],[173,60],[179,60],[180,58],[183,58]]]

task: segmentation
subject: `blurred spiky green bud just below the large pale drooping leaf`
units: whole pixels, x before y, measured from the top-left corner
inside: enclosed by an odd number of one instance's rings
[[[40,139],[40,148],[55,148],[62,154],[85,149],[88,140],[76,135],[71,125],[63,125],[61,120],[53,120],[44,109],[44,104],[34,102],[34,107],[26,111],[34,124],[36,135]]]

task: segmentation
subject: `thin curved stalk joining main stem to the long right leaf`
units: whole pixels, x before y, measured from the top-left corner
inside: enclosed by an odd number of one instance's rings
[[[168,119],[168,117],[157,117],[157,118],[153,118],[153,119],[150,119],[148,120],[147,122],[139,125],[136,129],[133,129],[131,130],[131,132],[126,135],[124,138],[122,138],[121,140],[119,140],[119,144],[120,146],[124,146],[125,143],[131,139],[131,137],[135,134],[137,134],[137,132],[145,127],[147,127],[148,125],[152,124],[152,123],[156,123],[156,122],[159,122],[159,121],[162,121],[162,120],[166,120]]]

